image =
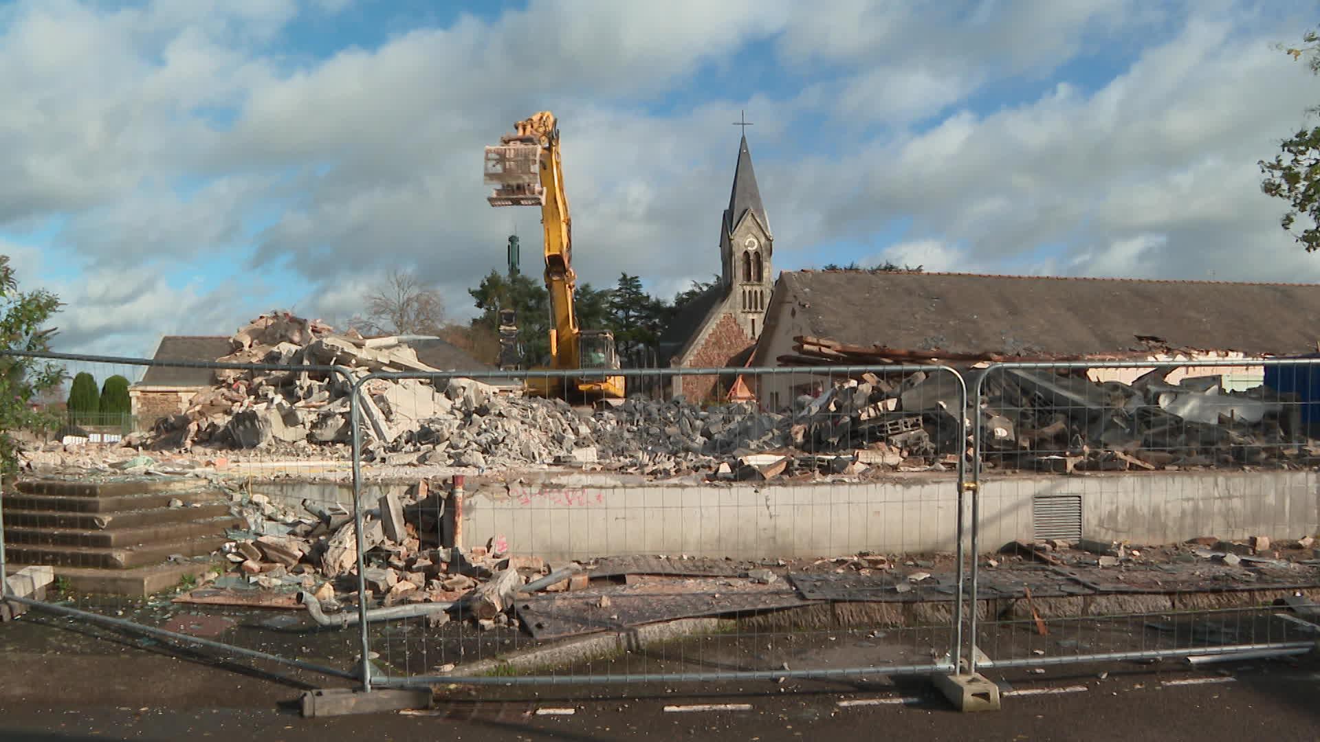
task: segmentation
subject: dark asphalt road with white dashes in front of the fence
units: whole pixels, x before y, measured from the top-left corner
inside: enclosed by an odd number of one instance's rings
[[[11,624],[12,626],[12,624]],[[3,636],[5,627],[0,627]],[[1307,656],[1189,668],[1052,668],[991,675],[1003,710],[961,714],[921,680],[898,685],[741,683],[675,687],[451,689],[426,716],[313,718],[312,683],[238,671],[161,648],[102,640],[99,651],[0,654],[0,739],[1175,739],[1320,738],[1320,661]],[[1100,675],[1107,675],[1101,679]],[[306,679],[313,680],[313,679]],[[1193,683],[1187,683],[1193,681]],[[1085,688],[1080,691],[1077,688]],[[1028,689],[1048,693],[1026,694]],[[840,701],[906,702],[840,706]],[[735,704],[746,710],[665,712]],[[537,716],[539,709],[572,716]]]

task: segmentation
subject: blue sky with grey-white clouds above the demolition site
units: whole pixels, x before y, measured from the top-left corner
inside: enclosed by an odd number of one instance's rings
[[[1258,160],[1308,124],[1312,1],[0,4],[0,253],[57,350],[149,356],[392,269],[537,273],[482,148],[560,120],[579,281],[719,271],[746,114],[774,269],[1320,281]],[[1315,121],[1309,121],[1313,125]]]

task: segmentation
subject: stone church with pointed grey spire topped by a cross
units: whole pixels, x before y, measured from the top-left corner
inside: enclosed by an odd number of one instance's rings
[[[719,283],[684,305],[660,337],[661,363],[673,368],[746,366],[766,327],[766,306],[775,285],[775,238],[751,166],[746,135],[729,209],[719,222]],[[748,396],[737,378],[675,376],[675,395],[688,401],[723,403]]]

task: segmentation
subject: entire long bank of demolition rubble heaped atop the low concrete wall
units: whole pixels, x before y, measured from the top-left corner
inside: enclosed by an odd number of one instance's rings
[[[219,360],[432,371],[400,338],[334,334],[323,323],[268,314],[232,338]],[[970,371],[969,386],[974,374]],[[987,378],[969,421],[983,425],[987,463],[1071,473],[1224,465],[1311,465],[1296,401],[1258,387],[1224,393],[1218,378],[1093,383],[1049,370]],[[219,370],[187,412],[161,421],[150,444],[298,452],[351,438],[348,383],[314,371]],[[516,469],[569,463],[676,477],[768,479],[805,473],[952,469],[966,454],[950,374],[862,374],[804,395],[784,411],[630,399],[574,409],[474,379],[378,379],[364,387],[364,457],[387,466]],[[131,441],[133,442],[133,441]],[[281,452],[282,453],[282,452]]]

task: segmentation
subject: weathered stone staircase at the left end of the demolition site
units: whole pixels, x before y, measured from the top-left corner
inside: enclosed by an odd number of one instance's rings
[[[224,492],[209,482],[150,479],[26,479],[5,492],[9,564],[50,565],[55,578],[88,593],[144,595],[201,574],[210,555],[240,527]]]

